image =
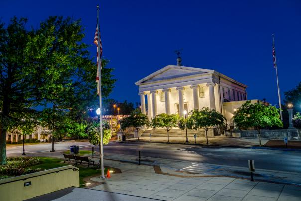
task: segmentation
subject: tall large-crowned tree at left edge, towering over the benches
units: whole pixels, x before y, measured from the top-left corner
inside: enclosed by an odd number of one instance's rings
[[[50,16],[26,30],[26,18],[0,22],[0,165],[6,163],[6,134],[20,116],[37,116],[47,104],[68,109],[96,100],[96,64],[87,51],[80,20]],[[115,80],[102,60],[102,94]],[[85,102],[86,104],[82,104]]]

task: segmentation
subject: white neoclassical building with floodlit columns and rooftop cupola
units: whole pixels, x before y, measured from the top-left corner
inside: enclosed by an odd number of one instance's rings
[[[232,115],[226,114],[247,100],[245,84],[215,70],[181,66],[179,58],[178,65],[165,66],[135,84],[141,111],[149,119],[160,113],[183,116],[184,110],[189,113],[209,107],[223,113],[230,123]],[[232,102],[231,107],[224,107],[228,102]]]

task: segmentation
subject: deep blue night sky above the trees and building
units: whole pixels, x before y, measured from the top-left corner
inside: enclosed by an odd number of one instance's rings
[[[276,104],[272,33],[282,99],[301,81],[300,0],[1,0],[0,17],[28,17],[28,28],[49,15],[81,18],[94,56],[97,3],[116,100],[138,102],[134,82],[176,64],[174,50],[183,48],[184,66],[217,70],[248,85],[248,99]]]

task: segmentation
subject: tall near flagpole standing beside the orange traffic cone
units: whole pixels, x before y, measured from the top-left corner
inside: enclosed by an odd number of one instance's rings
[[[102,104],[101,104],[101,58],[100,58],[100,31],[99,31],[99,5],[97,8],[97,48],[98,48],[98,86],[99,86],[99,124],[100,124],[100,164],[101,164],[101,178],[105,178],[104,176],[104,144],[103,144],[103,124],[102,124]]]

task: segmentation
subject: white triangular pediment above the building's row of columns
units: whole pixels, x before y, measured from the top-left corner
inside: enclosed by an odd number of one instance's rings
[[[174,79],[174,78],[209,73],[209,72],[213,72],[213,70],[186,67],[186,66],[168,65],[152,73],[151,75],[139,80],[135,84],[139,85],[142,83],[148,83],[148,82],[159,81],[159,80],[168,80],[168,79]]]

